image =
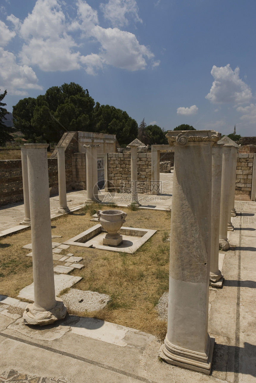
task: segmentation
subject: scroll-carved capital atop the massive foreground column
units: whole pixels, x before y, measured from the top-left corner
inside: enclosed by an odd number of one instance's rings
[[[215,130],[171,130],[165,137],[168,138],[170,146],[186,146],[188,142],[219,141],[221,135]]]

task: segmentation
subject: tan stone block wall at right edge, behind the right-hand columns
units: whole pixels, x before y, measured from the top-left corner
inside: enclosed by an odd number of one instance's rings
[[[253,153],[238,153],[236,162],[236,195],[251,196],[253,178]]]

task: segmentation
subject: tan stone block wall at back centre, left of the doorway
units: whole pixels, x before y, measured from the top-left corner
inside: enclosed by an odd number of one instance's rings
[[[151,153],[137,153],[139,194],[151,191]],[[108,154],[108,188],[130,193],[130,153]]]

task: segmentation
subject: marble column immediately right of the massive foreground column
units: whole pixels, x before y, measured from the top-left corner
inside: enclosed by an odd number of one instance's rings
[[[218,268],[223,145],[224,144],[214,144],[212,147],[212,231],[210,250],[210,282],[213,283],[216,283],[223,278],[223,275]]]

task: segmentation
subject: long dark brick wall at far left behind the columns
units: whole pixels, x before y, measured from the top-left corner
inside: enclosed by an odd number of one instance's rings
[[[58,190],[57,159],[48,158],[49,187]],[[21,160],[0,160],[0,206],[23,201]]]

